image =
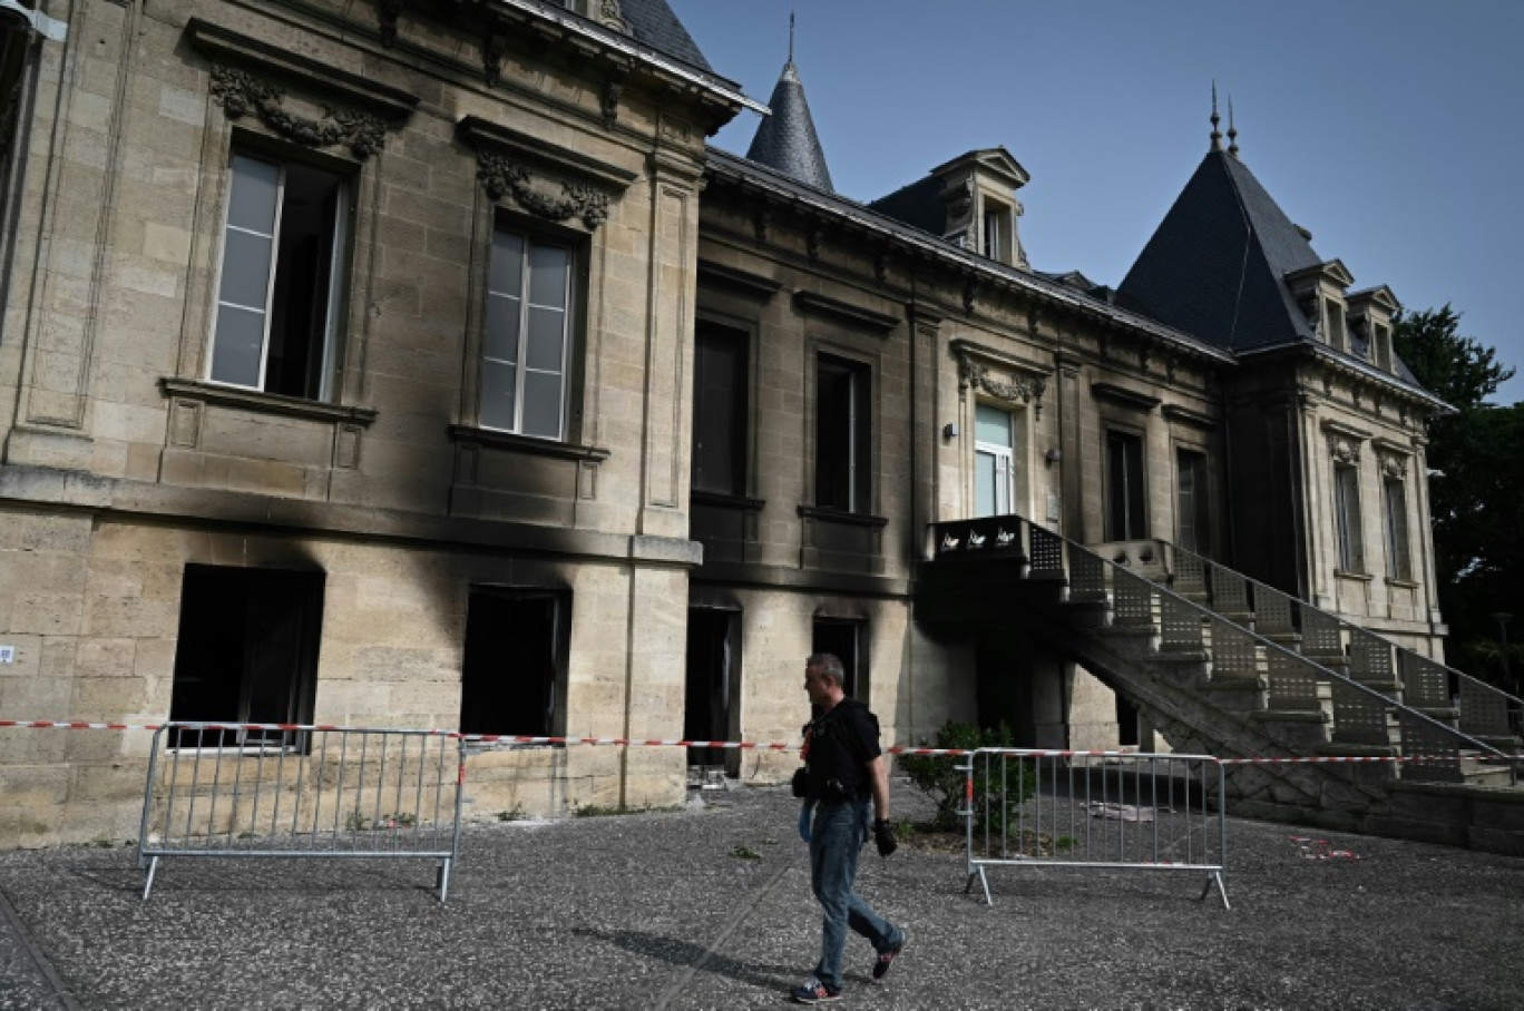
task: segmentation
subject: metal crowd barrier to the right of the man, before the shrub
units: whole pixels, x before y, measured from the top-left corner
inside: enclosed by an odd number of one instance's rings
[[[968,883],[992,866],[1195,871],[1228,906],[1222,764],[1210,755],[981,748],[965,773]]]

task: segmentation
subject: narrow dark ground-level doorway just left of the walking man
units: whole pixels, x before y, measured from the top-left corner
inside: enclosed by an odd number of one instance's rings
[[[715,608],[687,611],[687,694],[684,740],[735,740],[741,729],[741,615]],[[724,766],[741,773],[735,748],[689,748],[689,766]]]

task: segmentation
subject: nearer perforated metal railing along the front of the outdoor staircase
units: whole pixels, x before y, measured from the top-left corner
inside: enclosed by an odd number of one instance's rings
[[[1423,781],[1462,783],[1465,775],[1460,763],[1463,752],[1472,752],[1487,760],[1504,763],[1509,770],[1509,783],[1518,783],[1515,758],[1501,749],[1477,740],[1460,729],[1449,726],[1422,710],[1405,705],[1379,688],[1364,684],[1364,681],[1346,675],[1335,667],[1347,665],[1343,641],[1335,632],[1340,630],[1338,618],[1315,608],[1297,608],[1301,617],[1300,626],[1291,623],[1289,601],[1273,601],[1268,608],[1276,620],[1274,633],[1282,639],[1294,639],[1300,633],[1301,646],[1311,639],[1314,652],[1295,652],[1283,643],[1259,632],[1257,629],[1237,624],[1212,608],[1190,600],[1186,594],[1177,592],[1157,582],[1152,582],[1125,565],[1102,557],[1099,553],[1056,534],[1032,521],[1009,515],[1001,516],[1001,522],[1020,527],[1021,548],[1029,559],[1027,577],[1064,577],[1067,580],[1065,600],[1068,603],[1105,601],[1111,608],[1111,627],[1125,629],[1158,629],[1160,653],[1180,653],[1201,650],[1209,659],[1215,659],[1215,646],[1224,649],[1224,661],[1228,664],[1222,673],[1266,673],[1269,682],[1268,697],[1273,708],[1285,702],[1286,710],[1321,710],[1330,713],[1332,745],[1353,745],[1393,748],[1402,761],[1402,778]],[[959,550],[966,544],[966,533],[980,521],[939,522],[933,525],[933,542],[952,545],[943,550]],[[1199,586],[1205,589],[1216,566],[1210,559],[1195,553],[1184,553],[1187,572],[1199,571]],[[1225,576],[1247,580],[1254,589],[1263,586],[1239,572],[1224,569]],[[1189,582],[1189,580],[1187,580]],[[1187,591],[1190,586],[1187,585]],[[1265,586],[1269,594],[1279,594]],[[1196,591],[1199,595],[1199,591]],[[1248,598],[1245,597],[1245,601]],[[1271,598],[1266,597],[1266,601]],[[1294,600],[1294,598],[1291,598]],[[1256,597],[1253,603],[1259,603]],[[1297,601],[1305,603],[1305,601]],[[1285,604],[1285,606],[1282,606]],[[1166,638],[1163,627],[1164,615],[1169,615],[1170,632]],[[1192,615],[1186,618],[1184,615]],[[1195,636],[1190,624],[1195,623]],[[1288,630],[1294,629],[1294,630]],[[1364,629],[1359,629],[1364,632]],[[1379,636],[1366,632],[1370,639],[1385,643]],[[1164,643],[1169,649],[1163,649]],[[1295,643],[1294,643],[1295,644]],[[1393,644],[1387,643],[1388,647]],[[1359,652],[1379,652],[1373,643],[1362,639]],[[1251,659],[1250,659],[1251,658]],[[1263,667],[1260,667],[1263,658]],[[1379,673],[1381,665],[1376,665]],[[1390,676],[1390,664],[1385,667]],[[1390,687],[1390,685],[1388,685]],[[1327,700],[1329,705],[1324,705]],[[1391,719],[1394,714],[1398,738],[1391,737]]]

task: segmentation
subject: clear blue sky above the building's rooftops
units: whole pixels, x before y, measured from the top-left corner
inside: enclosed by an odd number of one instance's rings
[[[1201,161],[1216,81],[1244,163],[1355,288],[1451,301],[1524,373],[1524,3],[669,0],[767,102],[788,56],[837,192],[1004,146],[1033,266],[1116,285]],[[745,154],[757,116],[715,139]],[[1524,400],[1524,375],[1494,397]]]

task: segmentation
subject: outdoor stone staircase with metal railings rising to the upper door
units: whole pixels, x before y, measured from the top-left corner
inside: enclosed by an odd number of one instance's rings
[[[1173,751],[1259,760],[1227,766],[1233,813],[1524,854],[1513,696],[1164,542],[1020,516],[933,537],[917,618],[1021,627]]]

